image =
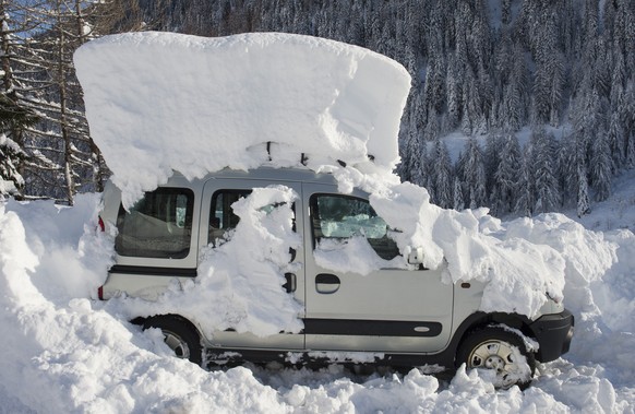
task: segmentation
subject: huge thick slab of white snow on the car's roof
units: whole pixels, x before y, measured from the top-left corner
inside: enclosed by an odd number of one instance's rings
[[[410,76],[368,49],[279,33],[145,32],[93,40],[74,60],[91,134],[127,203],[175,169],[192,178],[262,165],[266,142],[283,164],[301,153],[314,168],[398,162]]]

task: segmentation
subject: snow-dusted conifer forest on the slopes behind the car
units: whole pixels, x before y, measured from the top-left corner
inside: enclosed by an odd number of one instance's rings
[[[0,0],[0,191],[17,198],[100,190],[72,54],[151,29],[309,34],[396,59],[412,76],[398,173],[444,208],[584,215],[635,167],[632,0]]]

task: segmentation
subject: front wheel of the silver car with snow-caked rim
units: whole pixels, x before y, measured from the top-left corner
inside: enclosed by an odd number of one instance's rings
[[[494,387],[508,389],[529,387],[536,371],[536,356],[528,352],[523,339],[502,327],[486,327],[476,330],[460,344],[456,354],[456,366],[466,364],[466,369],[495,370]]]

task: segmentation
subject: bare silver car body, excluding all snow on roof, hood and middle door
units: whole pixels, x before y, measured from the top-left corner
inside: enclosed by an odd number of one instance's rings
[[[562,303],[548,300],[534,318],[481,311],[483,283],[444,281],[446,269],[424,268],[417,249],[402,258],[407,269],[388,265],[362,274],[325,268],[314,253],[323,240],[363,237],[384,263],[402,252],[368,193],[342,193],[333,175],[301,168],[225,169],[192,180],[175,173],[128,210],[121,192],[108,184],[99,217],[103,228],[116,228],[116,262],[99,298],[124,294],[153,301],[175,281],[195,280],[202,249],[221,245],[237,226],[232,203],[272,185],[298,194],[293,232],[301,246],[289,256],[293,271],[273,288],[299,304],[303,328],[264,336],[231,327],[208,332],[202,316],[182,315],[178,307],[134,318],[144,329],[160,329],[177,356],[199,365],[346,362],[359,355],[390,366],[453,370],[466,364],[492,369],[495,386],[508,388],[526,387],[538,362],[568,351],[574,318]],[[362,224],[346,225],[359,217]]]

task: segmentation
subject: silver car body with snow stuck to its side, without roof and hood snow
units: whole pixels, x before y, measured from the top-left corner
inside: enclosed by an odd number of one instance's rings
[[[134,322],[160,329],[177,356],[199,365],[467,364],[507,388],[527,385],[573,335],[562,301],[532,317],[480,310],[486,283],[448,282],[447,265],[423,265],[424,249],[399,249],[403,229],[375,213],[369,193],[342,193],[331,174],[175,173],[129,209],[109,184],[100,222],[116,263],[99,298],[125,296]]]

